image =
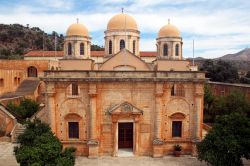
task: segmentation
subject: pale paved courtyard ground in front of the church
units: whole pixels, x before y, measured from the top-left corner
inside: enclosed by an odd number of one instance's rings
[[[0,142],[0,166],[18,166],[13,155],[15,145]],[[99,159],[88,159],[77,157],[76,166],[206,166],[206,163],[198,161],[194,157],[172,157],[164,158],[152,157],[100,157]],[[250,166],[250,162],[245,162],[245,166]]]

